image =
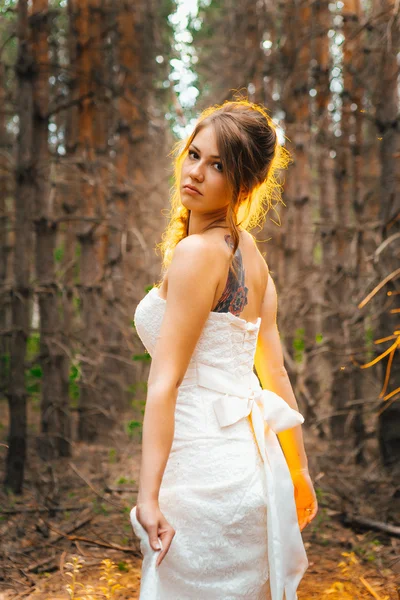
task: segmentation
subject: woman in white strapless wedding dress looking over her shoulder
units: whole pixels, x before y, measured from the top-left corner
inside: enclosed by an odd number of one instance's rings
[[[204,111],[176,148],[164,277],[134,317],[152,356],[131,511],[140,599],[295,600],[317,501],[274,282],[247,231],[288,154],[247,100]]]

